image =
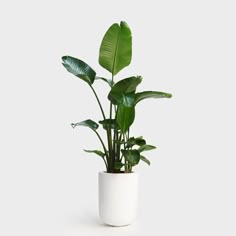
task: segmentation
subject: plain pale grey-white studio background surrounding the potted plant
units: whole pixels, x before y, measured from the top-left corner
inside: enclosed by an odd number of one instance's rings
[[[1,1],[0,235],[236,235],[235,1]],[[98,75],[107,28],[125,20],[133,61],[117,80],[173,93],[140,103],[133,125],[158,146],[141,163],[137,223],[101,224],[96,137],[71,122],[101,118],[61,56]],[[96,89],[106,101],[108,88]],[[108,108],[108,106],[106,106]]]

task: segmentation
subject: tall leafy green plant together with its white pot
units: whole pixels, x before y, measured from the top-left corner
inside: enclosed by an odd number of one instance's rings
[[[150,161],[144,152],[155,149],[140,137],[131,136],[131,125],[135,119],[135,107],[147,98],[170,98],[171,94],[159,91],[137,92],[142,82],[141,76],[131,76],[120,81],[115,80],[132,58],[132,35],[127,23],[113,24],[105,33],[99,51],[99,64],[111,73],[111,78],[103,78],[84,61],[63,56],[63,66],[82,79],[91,88],[101,110],[101,120],[87,119],[71,124],[73,128],[90,128],[101,143],[101,150],[85,150],[101,157],[105,171],[99,173],[99,215],[102,221],[112,226],[131,224],[136,217],[138,175],[133,167],[144,161]],[[108,84],[109,114],[105,114],[103,105],[93,87],[98,81]],[[99,124],[106,132],[103,140],[98,132]]]

